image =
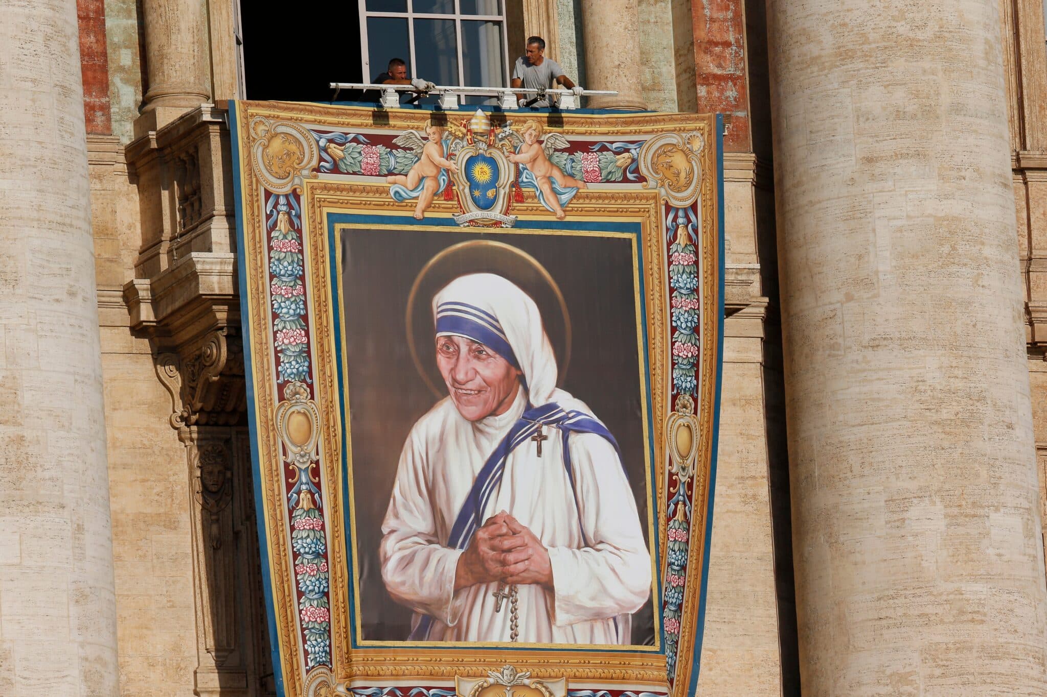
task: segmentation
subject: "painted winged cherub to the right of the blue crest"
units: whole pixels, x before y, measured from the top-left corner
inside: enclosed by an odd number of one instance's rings
[[[563,207],[566,206],[578,189],[586,187],[585,182],[564,175],[549,159],[553,150],[570,145],[567,139],[558,133],[551,133],[541,140],[543,126],[538,121],[526,121],[519,134],[508,129],[499,132],[499,139],[508,138],[516,145],[516,152],[506,157],[510,162],[524,165],[520,167],[520,186],[533,188],[538,193],[538,201],[547,209],[556,214],[556,219],[566,217]]]

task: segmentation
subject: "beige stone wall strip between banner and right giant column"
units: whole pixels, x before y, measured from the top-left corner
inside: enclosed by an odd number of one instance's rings
[[[698,676],[699,694],[723,697],[782,692],[770,483],[770,448],[780,444],[768,439],[767,399],[774,384],[768,390],[767,298],[760,276],[759,236],[766,235],[770,226],[759,215],[758,177],[765,180],[766,172],[758,172],[753,155],[726,158],[728,318]]]

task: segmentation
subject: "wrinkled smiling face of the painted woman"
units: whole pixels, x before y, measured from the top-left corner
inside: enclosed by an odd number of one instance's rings
[[[463,336],[437,336],[437,366],[459,413],[469,421],[505,414],[520,371],[490,348]]]

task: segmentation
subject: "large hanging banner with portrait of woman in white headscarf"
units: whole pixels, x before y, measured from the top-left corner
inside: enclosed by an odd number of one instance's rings
[[[719,118],[230,115],[281,694],[692,693]]]

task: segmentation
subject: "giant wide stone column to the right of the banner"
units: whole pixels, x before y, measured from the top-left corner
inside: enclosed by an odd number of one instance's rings
[[[804,694],[1047,694],[994,0],[767,0]]]

